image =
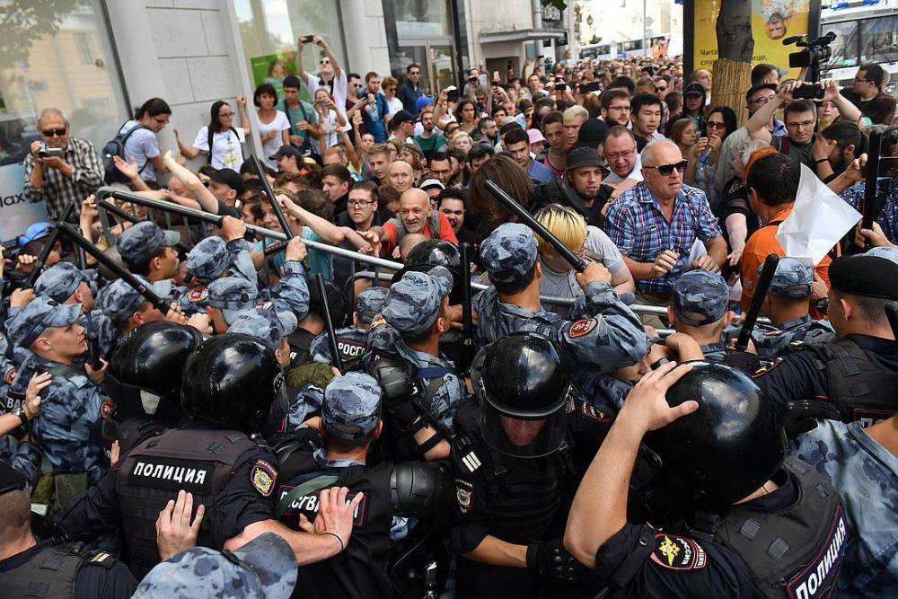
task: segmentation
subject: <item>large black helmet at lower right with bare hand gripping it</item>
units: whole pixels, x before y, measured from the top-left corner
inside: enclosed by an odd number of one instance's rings
[[[694,362],[667,403],[699,409],[645,436],[660,458],[651,481],[656,509],[718,509],[761,488],[786,457],[786,431],[772,401],[740,370]]]

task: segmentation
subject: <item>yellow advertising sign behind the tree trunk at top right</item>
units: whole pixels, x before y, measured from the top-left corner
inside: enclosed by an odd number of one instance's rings
[[[692,70],[712,68],[718,58],[716,24],[723,0],[694,0],[692,19]],[[782,40],[807,33],[810,0],[752,0],[752,64],[762,62],[788,69],[788,55],[797,51],[794,45],[783,46]],[[801,69],[788,69],[784,79],[797,78]]]

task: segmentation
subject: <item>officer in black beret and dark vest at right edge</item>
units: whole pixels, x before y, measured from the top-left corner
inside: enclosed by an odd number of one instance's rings
[[[898,389],[898,344],[885,304],[898,300],[898,264],[880,255],[832,260],[827,314],[836,340],[793,344],[754,375],[779,406],[790,401],[834,406],[845,422],[888,418]]]

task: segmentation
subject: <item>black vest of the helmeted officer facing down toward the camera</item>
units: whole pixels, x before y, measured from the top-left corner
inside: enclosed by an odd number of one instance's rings
[[[516,545],[543,540],[573,475],[569,446],[541,458],[499,454],[480,441],[477,410],[462,402],[455,415],[453,461],[466,478],[486,489],[489,534]]]

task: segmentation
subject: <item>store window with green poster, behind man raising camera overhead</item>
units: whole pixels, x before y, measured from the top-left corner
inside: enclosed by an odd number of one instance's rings
[[[346,68],[338,0],[234,0],[233,4],[254,86],[274,84],[280,97],[284,77],[296,74],[296,40],[304,35],[320,35]],[[317,73],[320,58],[321,48],[306,44],[305,72]],[[305,89],[303,95],[308,99]]]

